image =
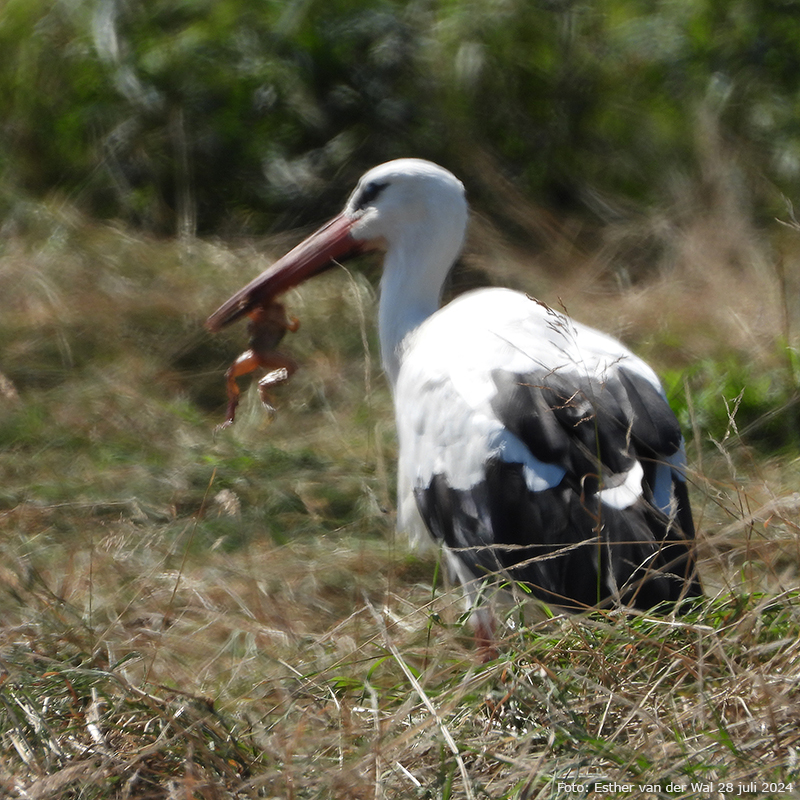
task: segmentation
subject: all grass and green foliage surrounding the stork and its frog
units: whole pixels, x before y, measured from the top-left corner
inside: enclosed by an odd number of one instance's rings
[[[5,0],[0,795],[797,795],[798,11]],[[522,288],[664,377],[690,616],[512,605],[476,664],[394,536],[372,262],[289,295],[277,420],[248,392],[215,433],[245,336],[204,318],[402,155],[468,186],[452,292]]]

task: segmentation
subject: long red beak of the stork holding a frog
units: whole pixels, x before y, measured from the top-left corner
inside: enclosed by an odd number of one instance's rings
[[[344,214],[334,217],[226,300],[206,320],[206,328],[216,333],[253,308],[266,305],[273,297],[333,266],[336,261],[368,249],[366,242],[351,236],[353,223],[354,220]]]

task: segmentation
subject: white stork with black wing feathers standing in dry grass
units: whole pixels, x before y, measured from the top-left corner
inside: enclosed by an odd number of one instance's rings
[[[700,595],[683,440],[655,373],[519,292],[478,289],[440,308],[467,220],[464,187],[447,170],[382,164],[207,326],[383,251],[378,321],[397,418],[398,527],[442,544],[471,604],[487,579],[524,583],[570,610]],[[490,618],[476,614],[479,637]]]

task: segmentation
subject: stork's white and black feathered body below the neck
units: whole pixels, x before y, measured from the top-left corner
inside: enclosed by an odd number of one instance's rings
[[[686,590],[680,429],[656,375],[613,338],[478,290],[409,337],[395,402],[399,523],[424,523],[472,576],[564,605]]]

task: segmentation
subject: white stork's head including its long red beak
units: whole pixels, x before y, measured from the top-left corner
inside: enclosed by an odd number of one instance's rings
[[[401,263],[408,278],[433,283],[438,293],[461,250],[467,213],[461,182],[430,161],[403,158],[374,167],[338,216],[223,303],[206,326],[218,331],[333,264],[370,250],[385,251],[387,269]]]

